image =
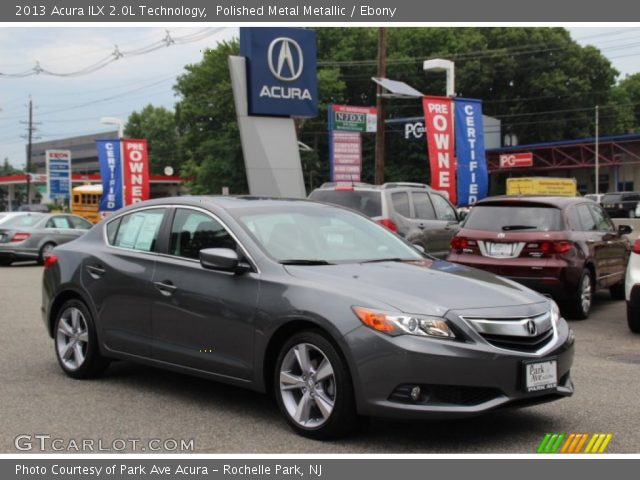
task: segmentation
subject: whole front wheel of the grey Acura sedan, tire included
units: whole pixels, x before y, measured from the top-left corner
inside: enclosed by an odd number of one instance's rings
[[[357,424],[349,370],[320,332],[300,332],[285,342],[276,361],[274,392],[280,411],[302,436],[339,438]]]

